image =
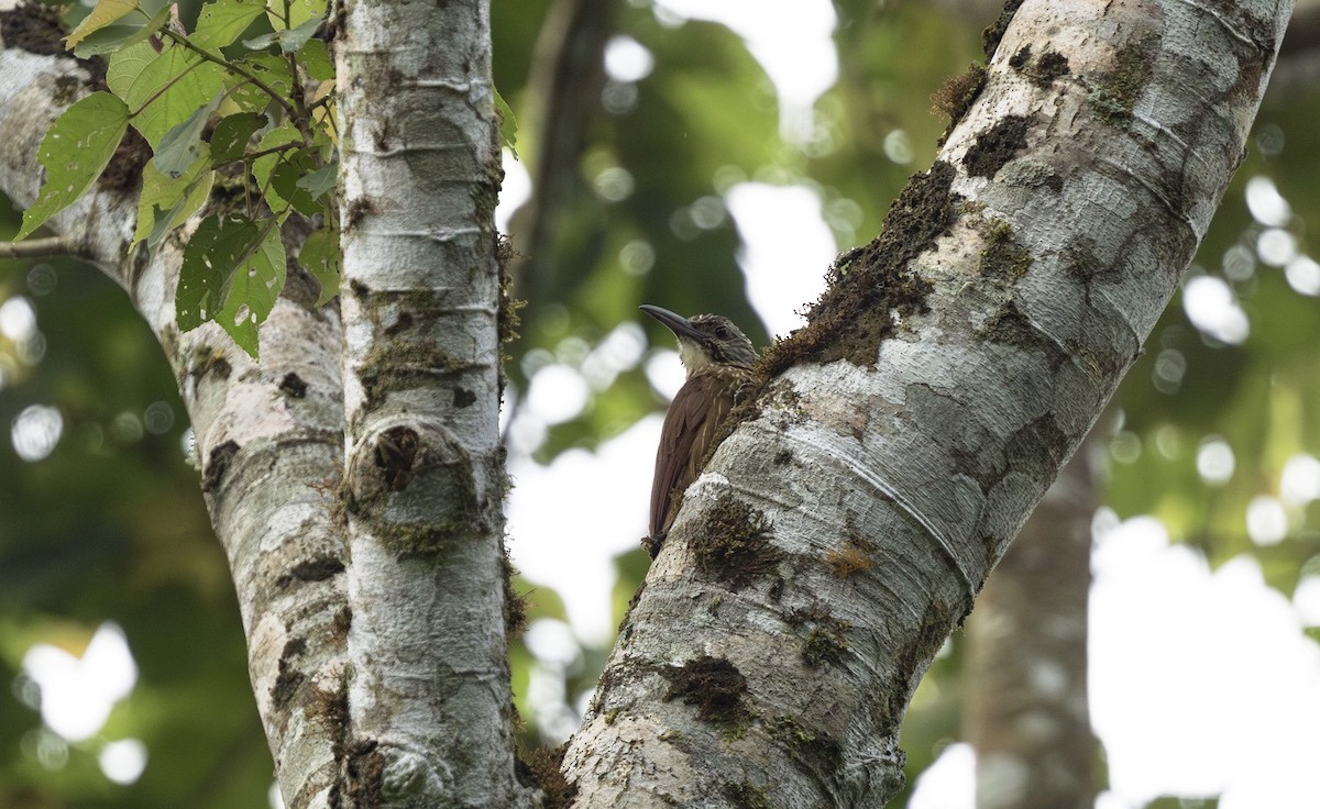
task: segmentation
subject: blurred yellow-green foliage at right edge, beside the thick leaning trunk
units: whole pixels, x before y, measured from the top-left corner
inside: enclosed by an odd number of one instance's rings
[[[1139,438],[1140,453],[1135,459],[1115,453],[1109,480],[1109,503],[1119,516],[1159,517],[1175,541],[1196,545],[1212,565],[1253,554],[1284,595],[1303,570],[1320,574],[1320,511],[1315,503],[1291,508],[1287,538],[1263,546],[1249,536],[1245,515],[1253,498],[1280,495],[1290,458],[1320,454],[1320,355],[1312,348],[1320,340],[1320,301],[1299,294],[1280,268],[1258,257],[1241,268],[1266,230],[1247,211],[1245,187],[1253,177],[1270,178],[1292,209],[1286,230],[1298,251],[1313,255],[1307,228],[1320,215],[1309,181],[1320,148],[1311,124],[1317,103],[1320,88],[1291,98],[1267,94],[1247,158],[1193,263],[1193,273],[1229,284],[1246,311],[1249,337],[1238,346],[1204,338],[1188,322],[1181,296],[1175,298],[1115,396],[1122,430]],[[1274,153],[1278,139],[1282,150]],[[1234,261],[1238,268],[1225,272]],[[1185,362],[1179,385],[1159,377],[1164,351]],[[1208,437],[1222,438],[1234,455],[1232,478],[1217,486],[1197,472],[1197,449]]]

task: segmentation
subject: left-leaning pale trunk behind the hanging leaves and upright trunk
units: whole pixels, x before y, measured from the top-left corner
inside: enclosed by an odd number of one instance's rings
[[[50,100],[55,82],[84,74],[73,59],[16,49],[0,50],[0,187],[26,206],[40,187],[37,146],[62,111]],[[329,509],[342,451],[338,313],[313,310],[314,293],[294,273],[261,326],[260,364],[214,323],[181,334],[182,244],[129,253],[135,220],[136,194],[98,187],[50,228],[125,289],[174,370],[211,523],[234,573],[277,776],[288,805],[326,805],[334,726],[319,694],[334,693],[345,672],[337,626],[346,610],[345,545]]]

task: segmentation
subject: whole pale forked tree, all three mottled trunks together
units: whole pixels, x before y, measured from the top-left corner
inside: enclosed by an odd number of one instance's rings
[[[576,806],[894,793],[912,689],[1176,288],[1290,8],[1018,9],[939,162],[689,490],[565,759]],[[253,364],[214,325],[178,333],[180,251],[127,256],[121,190],[50,223],[176,370],[300,809],[532,802],[503,663],[486,17],[347,8],[342,327],[293,278]],[[81,70],[0,51],[20,205]]]

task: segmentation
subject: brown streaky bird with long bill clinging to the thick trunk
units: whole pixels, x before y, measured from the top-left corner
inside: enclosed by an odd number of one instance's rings
[[[640,309],[678,338],[678,359],[688,371],[688,380],[665,412],[656,449],[649,533],[643,540],[655,558],[678,512],[682,492],[701,474],[702,462],[719,436],[719,424],[755,379],[756,348],[723,315],[685,318],[649,304]]]

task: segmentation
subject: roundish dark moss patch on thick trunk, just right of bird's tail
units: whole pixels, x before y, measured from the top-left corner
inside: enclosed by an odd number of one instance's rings
[[[723,495],[688,546],[698,570],[737,590],[779,565],[784,554],[771,542],[772,536],[764,513]]]

